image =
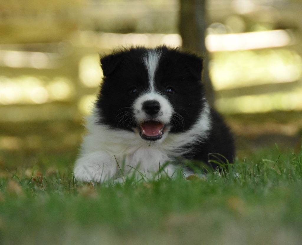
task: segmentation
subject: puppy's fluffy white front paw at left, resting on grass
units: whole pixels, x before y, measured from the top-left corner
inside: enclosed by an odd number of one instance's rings
[[[104,182],[117,174],[117,163],[114,156],[103,151],[83,154],[78,158],[74,167],[77,181]]]

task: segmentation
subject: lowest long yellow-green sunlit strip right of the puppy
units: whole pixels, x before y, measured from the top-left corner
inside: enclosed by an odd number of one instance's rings
[[[288,93],[246,95],[217,99],[215,104],[224,113],[256,113],[274,110],[302,110],[302,90]]]

